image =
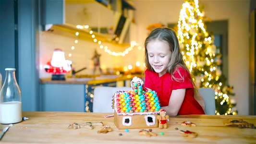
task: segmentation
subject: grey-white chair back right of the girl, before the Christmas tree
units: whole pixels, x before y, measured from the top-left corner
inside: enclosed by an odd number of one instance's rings
[[[199,93],[204,98],[206,105],[206,114],[215,115],[215,92],[212,88],[198,88]]]

